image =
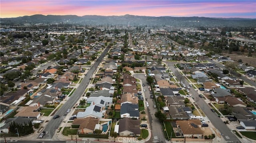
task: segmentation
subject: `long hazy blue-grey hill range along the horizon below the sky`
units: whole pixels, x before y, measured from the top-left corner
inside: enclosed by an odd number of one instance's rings
[[[175,27],[256,27],[256,19],[248,18],[206,18],[206,17],[171,17],[171,16],[76,16],[76,15],[41,15],[17,18],[0,18],[1,25],[24,25],[38,23],[63,22],[77,25],[128,25],[131,26],[175,26]]]

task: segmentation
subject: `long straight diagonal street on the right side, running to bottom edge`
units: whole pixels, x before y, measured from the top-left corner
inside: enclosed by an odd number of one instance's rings
[[[169,62],[165,61],[165,63],[168,64],[168,67],[172,70],[172,72],[175,73],[177,70],[174,68],[174,64],[178,62]],[[186,86],[189,85],[189,83],[184,80],[184,84]],[[232,133],[232,131],[228,128],[226,124],[223,123],[223,121],[214,113],[210,110],[209,105],[204,101],[203,98],[200,98],[198,96],[198,92],[194,88],[190,88],[189,92],[192,96],[194,96],[194,100],[196,101],[196,104],[203,110],[204,114],[208,117],[208,119],[212,122],[214,127],[220,131],[219,133],[224,137],[224,139],[228,142],[234,142],[234,143],[240,143],[240,140]]]

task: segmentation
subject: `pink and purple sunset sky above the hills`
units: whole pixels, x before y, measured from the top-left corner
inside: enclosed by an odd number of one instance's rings
[[[0,0],[0,18],[34,14],[256,18],[256,0]]]

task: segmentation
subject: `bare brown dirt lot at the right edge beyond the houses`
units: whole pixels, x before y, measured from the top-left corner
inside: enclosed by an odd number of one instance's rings
[[[224,56],[229,56],[232,60],[238,61],[239,59],[242,59],[242,62],[244,64],[248,63],[248,65],[252,67],[256,67],[256,58],[255,57],[246,57],[243,55],[235,55],[235,54],[223,54]]]

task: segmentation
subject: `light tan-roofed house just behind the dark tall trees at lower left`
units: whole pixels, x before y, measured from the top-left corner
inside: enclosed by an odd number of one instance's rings
[[[40,117],[40,106],[23,106],[16,110],[14,117],[35,118]]]

